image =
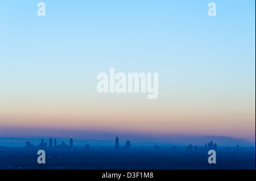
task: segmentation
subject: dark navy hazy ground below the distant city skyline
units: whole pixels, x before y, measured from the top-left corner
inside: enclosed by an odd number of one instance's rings
[[[0,169],[255,169],[255,148],[217,150],[216,164],[207,151],[47,149],[39,165],[38,150],[0,148]]]

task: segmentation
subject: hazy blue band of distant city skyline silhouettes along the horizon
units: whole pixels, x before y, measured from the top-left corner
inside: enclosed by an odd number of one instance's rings
[[[199,137],[195,138],[192,137],[189,139],[188,137],[184,137],[184,142],[176,142],[173,141],[173,139],[169,142],[165,142],[165,140],[159,141],[159,140],[152,140],[151,142],[143,142],[143,141],[138,141],[137,138],[138,137],[131,137],[132,139],[129,138],[129,140],[127,140],[127,137],[122,138],[121,142],[119,142],[119,137],[116,136],[115,140],[90,140],[90,139],[86,139],[86,138],[76,138],[75,139],[75,146],[73,146],[73,138],[64,138],[64,137],[24,137],[24,138],[15,138],[15,137],[0,137],[0,146],[7,146],[7,147],[23,147],[24,146],[24,142],[26,142],[26,147],[30,147],[33,146],[33,148],[35,147],[35,145],[37,145],[37,147],[39,148],[76,148],[76,147],[84,147],[85,145],[88,146],[93,146],[94,148],[98,148],[99,146],[108,146],[108,147],[112,147],[115,150],[124,150],[124,149],[130,149],[130,142],[133,142],[133,147],[134,148],[138,148],[138,147],[152,147],[155,144],[158,146],[164,146],[164,147],[172,147],[172,146],[181,146],[184,147],[186,145],[196,145],[199,146],[201,148],[214,148],[214,145],[216,145],[216,142],[218,142],[218,146],[221,147],[236,147],[237,145],[240,145],[242,147],[251,147],[251,148],[255,148],[255,145],[253,144],[246,144],[245,142],[241,141],[241,140],[232,140],[230,138],[226,138],[226,142],[223,142],[222,140],[224,140],[223,137],[218,138],[218,137],[208,137],[205,136],[204,140],[200,140]],[[213,139],[215,140],[215,142],[213,143],[208,142],[207,140],[209,139]],[[44,140],[48,140],[48,141],[44,141]],[[131,141],[130,141],[131,140]],[[194,140],[197,140],[197,142],[195,142]],[[39,145],[38,142],[40,141]],[[54,145],[53,145],[53,141],[54,141]],[[173,141],[173,142],[172,142]],[[205,144],[202,144],[202,142]],[[11,143],[13,142],[13,143]]]

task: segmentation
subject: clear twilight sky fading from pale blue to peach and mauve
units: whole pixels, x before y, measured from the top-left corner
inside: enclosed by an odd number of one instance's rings
[[[2,137],[84,130],[255,145],[255,1],[214,0],[216,16],[205,0],[42,0],[46,16],[39,2],[0,0]],[[158,73],[158,98],[98,93],[110,68]]]

